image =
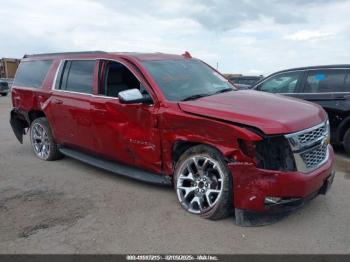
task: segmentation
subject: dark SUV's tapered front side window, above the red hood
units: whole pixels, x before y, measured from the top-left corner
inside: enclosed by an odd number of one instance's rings
[[[270,93],[294,93],[302,72],[289,72],[273,76],[259,85],[258,89]]]

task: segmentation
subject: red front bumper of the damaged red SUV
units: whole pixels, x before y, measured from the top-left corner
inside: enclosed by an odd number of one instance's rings
[[[298,207],[322,193],[327,178],[333,172],[334,153],[332,147],[328,147],[328,160],[307,174],[258,169],[250,163],[230,163],[234,207],[252,212],[275,212]],[[288,203],[268,206],[265,204],[266,197],[279,197]]]

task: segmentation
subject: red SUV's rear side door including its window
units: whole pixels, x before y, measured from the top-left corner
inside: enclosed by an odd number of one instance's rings
[[[64,60],[49,103],[57,143],[92,151],[90,104],[96,60]]]

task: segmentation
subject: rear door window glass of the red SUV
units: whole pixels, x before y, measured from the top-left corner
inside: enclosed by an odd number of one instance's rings
[[[56,89],[92,94],[95,64],[95,60],[65,61],[59,71]]]

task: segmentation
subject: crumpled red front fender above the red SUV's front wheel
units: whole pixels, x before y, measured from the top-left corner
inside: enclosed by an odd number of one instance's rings
[[[237,139],[259,141],[262,138],[252,131],[230,123],[190,115],[167,108],[160,113],[160,130],[164,173],[172,175],[173,149],[177,142],[207,144],[219,150],[227,161],[253,163],[239,149]]]

